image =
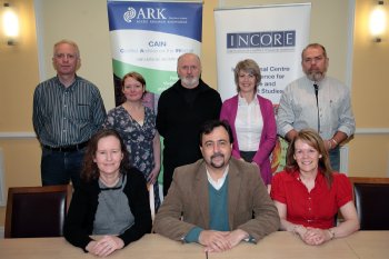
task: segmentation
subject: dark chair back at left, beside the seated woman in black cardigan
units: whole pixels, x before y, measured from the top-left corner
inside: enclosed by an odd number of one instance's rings
[[[4,238],[61,237],[72,187],[8,189]]]

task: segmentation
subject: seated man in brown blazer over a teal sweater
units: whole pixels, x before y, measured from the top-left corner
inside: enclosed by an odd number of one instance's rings
[[[278,230],[278,211],[258,167],[231,158],[232,142],[227,121],[212,120],[202,126],[203,158],[174,170],[156,216],[157,233],[219,252],[242,240],[257,243]]]

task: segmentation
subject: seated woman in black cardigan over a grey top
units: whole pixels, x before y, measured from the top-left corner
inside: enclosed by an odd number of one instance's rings
[[[101,130],[92,137],[82,182],[73,195],[63,227],[70,243],[104,257],[150,232],[147,183],[142,173],[128,165],[127,148],[114,130]]]

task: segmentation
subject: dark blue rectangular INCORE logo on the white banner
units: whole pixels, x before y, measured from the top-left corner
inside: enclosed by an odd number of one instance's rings
[[[283,48],[296,46],[296,31],[227,33],[227,49]]]

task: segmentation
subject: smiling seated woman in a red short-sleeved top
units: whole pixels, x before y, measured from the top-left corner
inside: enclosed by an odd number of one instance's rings
[[[299,131],[290,142],[286,170],[273,177],[271,186],[281,229],[298,233],[308,245],[359,229],[351,183],[346,175],[331,171],[325,143],[313,130]],[[338,210],[345,221],[335,226]]]

